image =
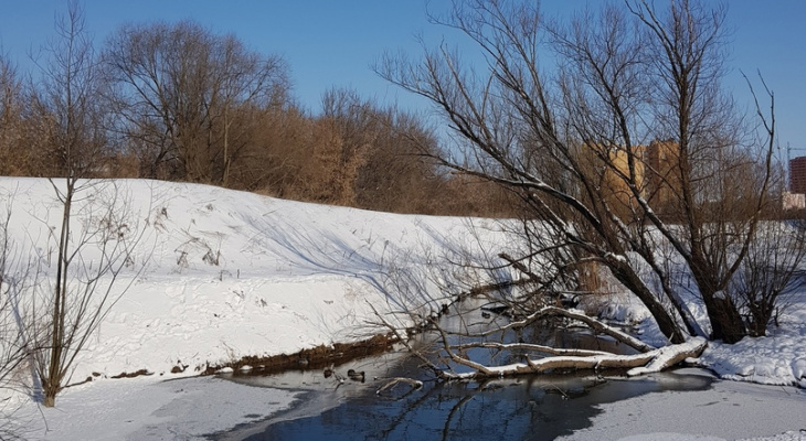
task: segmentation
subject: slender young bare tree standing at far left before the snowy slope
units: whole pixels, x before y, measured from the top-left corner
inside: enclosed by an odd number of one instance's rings
[[[108,112],[103,108],[103,82],[78,3],[70,4],[55,29],[56,37],[45,47],[49,58],[34,106],[54,121],[50,144],[57,159],[55,171],[62,176],[50,180],[62,212],[59,227],[52,230],[57,256],[55,268],[47,272],[51,283],[38,283],[45,289],[44,300],[32,303],[23,326],[26,341],[35,347],[34,366],[49,407],[70,379],[77,354],[126,291],[115,289],[115,282],[131,265],[129,252],[142,234],[117,185],[88,179],[105,164]],[[77,227],[76,214],[83,218]],[[49,313],[42,308],[49,308]]]

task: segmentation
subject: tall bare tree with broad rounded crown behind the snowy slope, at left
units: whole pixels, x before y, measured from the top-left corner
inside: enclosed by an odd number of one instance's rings
[[[288,99],[280,57],[262,57],[193,22],[125,25],[103,60],[116,127],[146,176],[227,184],[257,121],[248,114]]]

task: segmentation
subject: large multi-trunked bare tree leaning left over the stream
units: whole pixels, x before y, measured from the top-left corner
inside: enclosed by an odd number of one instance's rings
[[[456,137],[436,155],[442,165],[523,202],[529,245],[502,258],[537,287],[528,292],[580,291],[601,268],[600,280],[635,294],[671,343],[746,335],[731,281],[770,197],[775,121],[774,106],[757,106],[747,131],[720,88],[725,10],[638,0],[563,23],[532,2],[454,4],[437,22],[475,43],[486,69],[442,46],[416,63],[388,57],[378,72],[444,116]],[[527,318],[568,316],[531,304]]]

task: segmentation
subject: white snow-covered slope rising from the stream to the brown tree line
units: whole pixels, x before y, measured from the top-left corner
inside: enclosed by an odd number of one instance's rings
[[[10,204],[14,249],[31,252],[18,261],[51,261],[52,232],[61,220],[53,185],[1,178],[0,193]],[[457,218],[144,180],[102,183],[78,198],[74,229],[99,222],[100,207],[115,203],[129,237],[142,237],[113,293],[132,284],[79,354],[74,381],[93,373],[168,373],[179,365],[192,375],[246,355],[365,337],[379,331],[368,326],[371,305],[383,313],[396,309],[386,289],[392,272],[427,265],[424,250],[444,249],[447,237],[458,243],[468,228]],[[86,248],[88,259],[97,258]]]

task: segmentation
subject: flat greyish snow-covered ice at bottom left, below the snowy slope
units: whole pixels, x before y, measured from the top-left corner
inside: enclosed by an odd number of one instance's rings
[[[198,377],[108,380],[65,390],[55,409],[15,415],[29,440],[198,440],[287,409],[297,392]]]

